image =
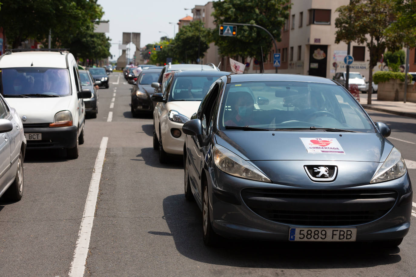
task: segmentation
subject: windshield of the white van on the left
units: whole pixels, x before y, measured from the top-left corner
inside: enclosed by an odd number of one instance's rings
[[[1,92],[5,97],[71,95],[68,69],[21,67],[5,68],[0,72]]]

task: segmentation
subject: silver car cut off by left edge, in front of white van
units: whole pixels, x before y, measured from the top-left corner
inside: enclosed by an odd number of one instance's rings
[[[11,201],[22,198],[25,151],[22,121],[0,96],[0,197]]]

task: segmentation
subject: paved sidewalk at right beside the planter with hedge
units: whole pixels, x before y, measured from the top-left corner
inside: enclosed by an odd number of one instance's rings
[[[380,112],[416,118],[416,103],[403,103],[403,101],[378,101],[376,93],[371,95],[371,105],[367,105],[366,93],[360,93],[359,102],[366,110],[378,110]]]

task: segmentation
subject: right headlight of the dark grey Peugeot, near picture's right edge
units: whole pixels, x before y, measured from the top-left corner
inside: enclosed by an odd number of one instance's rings
[[[406,174],[407,168],[400,151],[393,147],[389,157],[384,161],[380,169],[374,174],[370,184],[397,179]]]

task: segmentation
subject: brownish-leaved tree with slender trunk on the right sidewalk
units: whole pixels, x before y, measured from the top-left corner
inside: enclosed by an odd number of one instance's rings
[[[373,68],[388,45],[396,44],[386,35],[386,29],[394,18],[394,2],[391,0],[351,0],[341,6],[335,19],[335,43],[365,44],[369,49],[369,84],[373,81]],[[371,104],[372,86],[369,86],[367,104]]]

